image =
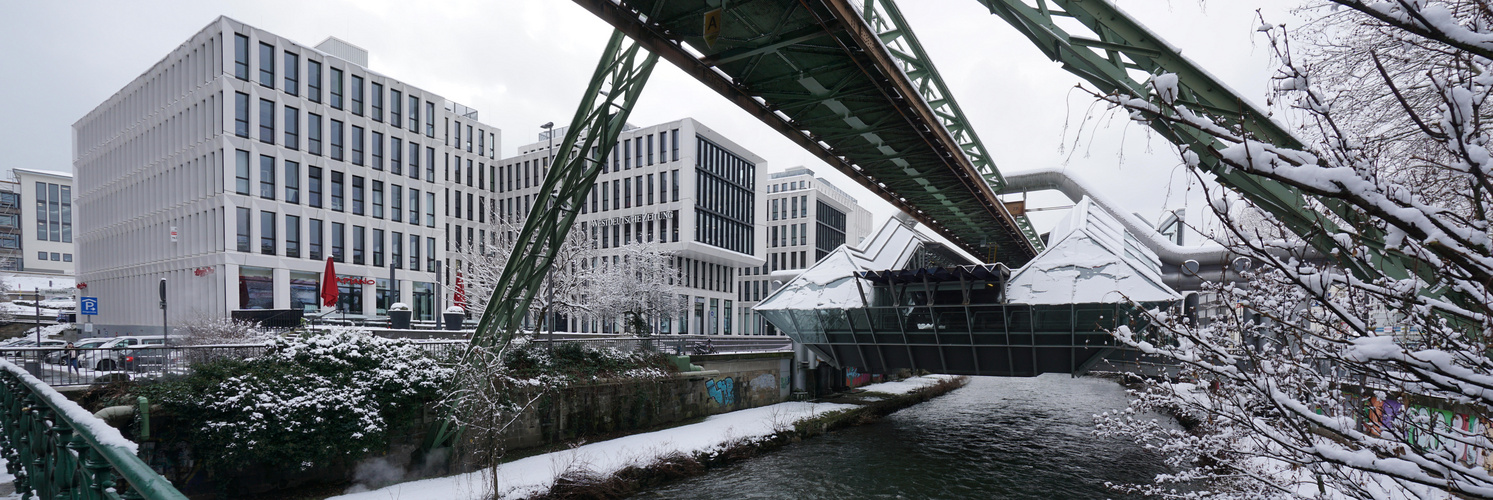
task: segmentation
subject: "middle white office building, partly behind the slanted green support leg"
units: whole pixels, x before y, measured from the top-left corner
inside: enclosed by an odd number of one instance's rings
[[[554,131],[558,146],[564,130]],[[523,219],[539,196],[549,140],[518,148],[497,166],[497,212]],[[609,249],[655,243],[679,272],[681,315],[652,325],[660,333],[738,334],[736,269],[761,266],[760,187],[766,161],[696,119],[629,125],[614,145],[576,225]],[[460,188],[458,188],[460,190]],[[458,196],[460,199],[460,196]],[[466,197],[467,207],[473,200]],[[481,212],[481,199],[476,200]],[[470,240],[472,224],[466,224]],[[463,227],[455,227],[461,234]],[[564,318],[561,330],[618,331],[609,318]]]

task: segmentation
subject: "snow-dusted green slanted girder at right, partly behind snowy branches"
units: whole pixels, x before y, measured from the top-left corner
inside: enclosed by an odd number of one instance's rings
[[[1256,109],[1106,0],[976,1],[1021,31],[1048,58],[1062,63],[1065,70],[1103,93],[1145,99],[1150,94],[1145,87],[1150,76],[1175,73],[1181,82],[1178,101],[1184,106],[1215,121],[1239,125],[1256,140],[1282,148],[1303,148],[1302,142],[1275,124],[1269,113]],[[1088,33],[1066,31],[1056,22],[1060,16],[1078,21],[1078,25]],[[1200,130],[1171,125],[1160,119],[1151,121],[1151,127],[1172,143],[1197,152],[1202,167],[1220,184],[1271,212],[1317,251],[1333,255],[1339,266],[1356,276],[1402,279],[1414,272],[1429,284],[1438,282],[1435,267],[1386,248],[1383,233],[1347,203],[1332,199],[1308,200],[1299,190],[1281,182],[1226,167],[1217,155],[1209,154],[1221,143]],[[1318,201],[1330,215],[1312,210],[1311,201]],[[1333,239],[1342,231],[1339,222],[1360,234],[1360,243],[1368,246],[1369,255],[1356,255],[1351,249],[1339,248]]]

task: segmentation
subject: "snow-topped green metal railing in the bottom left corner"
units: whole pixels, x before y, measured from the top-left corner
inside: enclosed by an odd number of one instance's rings
[[[0,387],[0,452],[21,499],[187,500],[118,436],[100,436],[102,419],[9,361]]]

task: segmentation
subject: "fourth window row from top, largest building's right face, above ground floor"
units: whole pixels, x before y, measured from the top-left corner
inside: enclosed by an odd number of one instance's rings
[[[252,216],[254,210],[248,207],[237,209],[237,251],[254,252],[252,248]],[[260,212],[260,254],[278,255],[276,251],[279,245],[279,237],[285,240],[285,257],[300,258],[302,257],[302,237],[305,236],[305,257],[309,260],[322,260],[331,257],[333,261],[352,263],[357,266],[370,264],[373,267],[384,267],[384,249],[385,243],[388,248],[388,264],[393,267],[405,267],[403,254],[409,249],[409,270],[421,270],[421,246],[424,246],[424,270],[436,270],[436,239],[424,237],[426,245],[420,245],[420,234],[409,234],[409,246],[405,246],[405,233],[388,231],[390,239],[385,242],[385,230],[373,228],[367,230],[363,225],[352,225],[351,233],[343,222],[327,224],[322,219],[308,218],[306,233],[300,230],[302,218],[299,215],[285,215],[285,225],[279,227],[279,215],[269,210]],[[330,231],[328,231],[330,230]],[[281,236],[282,234],[282,236]],[[369,237],[370,236],[370,237]],[[346,251],[351,249],[351,254]],[[322,254],[325,252],[325,254]],[[364,257],[370,257],[364,260]]]

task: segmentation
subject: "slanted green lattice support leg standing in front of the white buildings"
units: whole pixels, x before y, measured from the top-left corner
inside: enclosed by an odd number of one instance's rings
[[[555,252],[602,173],[606,154],[612,151],[609,145],[617,142],[658,61],[657,55],[640,55],[639,51],[640,46],[621,31],[612,33],[539,188],[539,193],[552,193],[552,197],[530,209],[524,228],[518,233],[518,243],[493,288],[493,299],[478,322],[472,337],[473,349],[503,346],[523,325],[529,304],[549,275]],[[608,146],[597,148],[599,145]],[[600,157],[591,157],[591,151],[600,151]]]

